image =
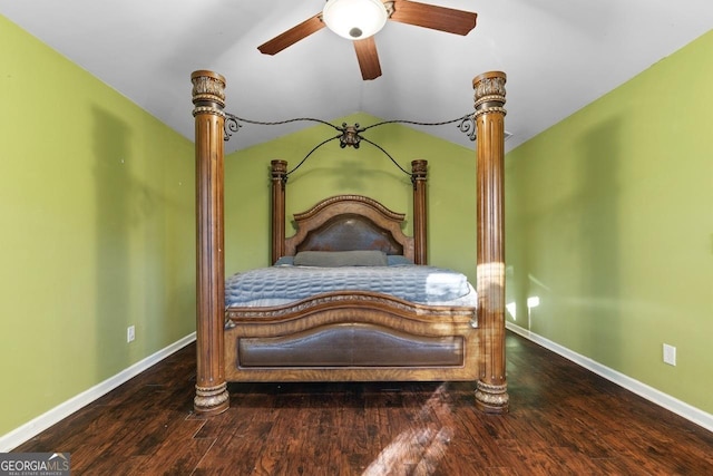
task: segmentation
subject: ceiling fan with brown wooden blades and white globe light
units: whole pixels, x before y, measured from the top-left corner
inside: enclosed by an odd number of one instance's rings
[[[339,36],[353,40],[361,76],[367,80],[381,76],[373,36],[387,20],[465,36],[476,27],[476,18],[475,12],[410,0],[328,0],[321,12],[257,49],[265,55],[275,55],[328,27]]]

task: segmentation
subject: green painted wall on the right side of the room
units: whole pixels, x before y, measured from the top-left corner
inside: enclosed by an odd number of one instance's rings
[[[508,154],[506,175],[515,322],[707,412],[711,51],[713,32]]]

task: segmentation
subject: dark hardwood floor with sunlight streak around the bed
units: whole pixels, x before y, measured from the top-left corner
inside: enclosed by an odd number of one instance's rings
[[[195,344],[16,451],[76,475],[713,475],[713,434],[508,334],[510,414],[472,383],[231,385],[192,411]]]

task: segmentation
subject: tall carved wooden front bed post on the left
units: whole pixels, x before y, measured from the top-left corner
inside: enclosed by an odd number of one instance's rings
[[[196,395],[197,414],[229,405],[223,354],[225,261],[223,253],[223,125],[225,78],[194,71],[196,146]]]

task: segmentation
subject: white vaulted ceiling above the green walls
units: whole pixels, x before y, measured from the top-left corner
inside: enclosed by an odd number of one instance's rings
[[[248,119],[418,122],[472,113],[472,78],[502,70],[508,150],[713,28],[711,0],[422,2],[475,11],[477,27],[460,37],[388,22],[375,36],[383,75],[371,81],[328,29],[276,56],[257,51],[324,0],[0,0],[0,13],[191,139],[196,69],[225,76],[226,111]],[[226,150],[311,125],[251,125]],[[453,125],[423,130],[472,146]]]

